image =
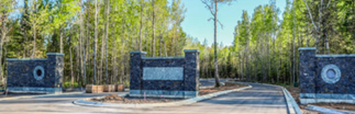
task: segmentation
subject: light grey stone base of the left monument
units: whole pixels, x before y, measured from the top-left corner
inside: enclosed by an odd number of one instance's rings
[[[62,93],[62,88],[37,88],[37,87],[8,87],[8,92],[13,93]]]

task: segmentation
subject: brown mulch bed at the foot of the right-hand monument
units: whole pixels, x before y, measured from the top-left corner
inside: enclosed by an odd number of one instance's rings
[[[300,104],[300,91],[299,88],[286,87],[286,89],[293,96],[295,101],[298,103],[299,107],[304,111],[307,105]],[[332,109],[332,110],[344,110],[344,111],[355,111],[355,104],[350,103],[311,103],[311,105],[317,105],[321,107]]]

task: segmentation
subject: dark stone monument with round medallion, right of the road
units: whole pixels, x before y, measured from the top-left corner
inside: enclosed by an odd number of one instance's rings
[[[300,101],[355,103],[355,55],[315,55],[299,48]]]

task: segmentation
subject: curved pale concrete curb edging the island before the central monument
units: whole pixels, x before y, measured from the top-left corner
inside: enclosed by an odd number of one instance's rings
[[[218,95],[222,95],[222,94],[228,94],[231,92],[235,92],[235,91],[242,91],[245,89],[251,89],[253,88],[252,86],[248,87],[243,87],[240,89],[234,89],[234,90],[226,90],[226,91],[221,91],[221,92],[215,92],[215,93],[211,93],[211,94],[207,94],[207,95],[201,95],[201,96],[197,96],[193,99],[187,99],[184,101],[178,101],[178,102],[169,102],[169,103],[154,103],[154,104],[115,104],[115,103],[98,103],[98,102],[91,102],[91,101],[87,101],[88,99],[84,99],[84,100],[77,100],[74,101],[73,104],[76,105],[82,105],[82,106],[102,106],[102,107],[164,107],[164,106],[179,106],[179,105],[187,105],[187,104],[192,104],[199,101],[203,101],[203,100],[208,100]],[[126,94],[119,94],[120,96],[126,95]]]

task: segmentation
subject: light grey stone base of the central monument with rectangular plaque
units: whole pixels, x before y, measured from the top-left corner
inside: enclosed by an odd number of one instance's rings
[[[154,98],[196,98],[198,91],[167,91],[167,90],[130,90],[130,96],[154,96]]]

